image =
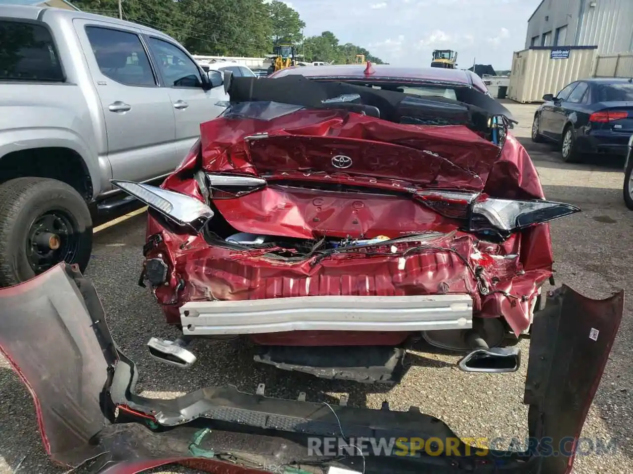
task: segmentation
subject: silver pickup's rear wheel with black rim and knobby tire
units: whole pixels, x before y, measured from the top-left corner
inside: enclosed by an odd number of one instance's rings
[[[92,219],[84,198],[56,179],[16,178],[0,185],[0,288],[59,262],[84,272]]]

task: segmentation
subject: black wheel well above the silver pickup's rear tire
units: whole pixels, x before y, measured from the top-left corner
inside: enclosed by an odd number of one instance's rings
[[[75,150],[63,147],[33,148],[0,159],[0,184],[27,176],[58,179],[72,186],[86,201],[92,199],[92,181],[85,162]]]

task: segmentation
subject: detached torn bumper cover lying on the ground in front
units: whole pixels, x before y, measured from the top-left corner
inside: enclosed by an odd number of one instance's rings
[[[320,473],[337,466],[358,473],[568,474],[568,446],[580,435],[623,304],[623,291],[598,301],[563,286],[537,314],[524,401],[530,437],[541,442],[520,453],[467,455],[457,442],[456,451],[441,456],[315,454],[308,450],[314,439],[456,435],[413,408],[329,406],[234,387],[206,387],[170,400],[138,396],[136,368],[111,338],[94,286],[65,264],[0,289],[0,349],[32,394],[47,453],[66,466],[88,463],[92,472],[131,474],[180,463],[227,473],[277,472],[279,466]],[[569,452],[551,455],[551,447],[563,443]]]

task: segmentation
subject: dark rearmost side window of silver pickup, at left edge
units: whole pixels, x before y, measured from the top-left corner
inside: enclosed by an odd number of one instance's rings
[[[64,81],[53,37],[46,27],[0,21],[0,80]]]

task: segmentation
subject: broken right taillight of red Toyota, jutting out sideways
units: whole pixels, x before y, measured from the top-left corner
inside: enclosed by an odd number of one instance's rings
[[[514,200],[487,197],[467,191],[418,191],[416,197],[438,214],[464,222],[472,233],[504,238],[536,224],[580,212],[578,207],[546,200]]]

